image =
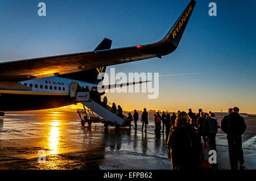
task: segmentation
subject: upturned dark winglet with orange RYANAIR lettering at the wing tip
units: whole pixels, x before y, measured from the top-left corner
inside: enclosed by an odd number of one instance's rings
[[[187,26],[188,20],[192,14],[195,5],[195,0],[189,2],[188,6],[176,20],[171,30],[162,40],[153,44],[142,45],[139,48],[137,46],[137,49],[147,54],[155,54],[156,57],[164,56],[173,52],[179,45],[180,39],[183,35],[185,27]]]

